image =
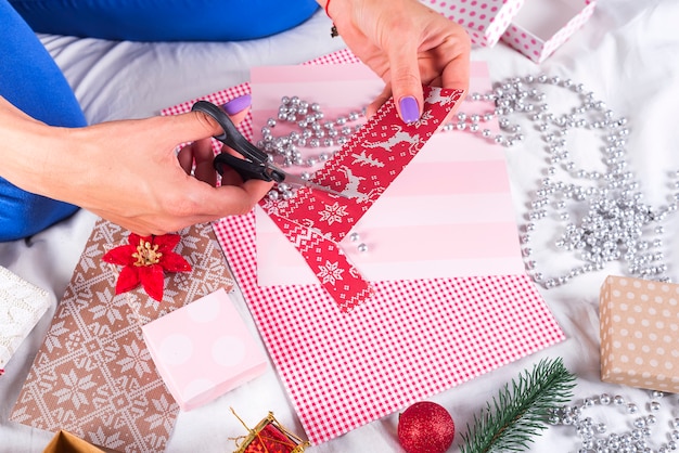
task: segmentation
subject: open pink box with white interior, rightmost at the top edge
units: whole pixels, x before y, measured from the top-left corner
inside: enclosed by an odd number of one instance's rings
[[[528,0],[502,35],[502,41],[541,63],[589,20],[595,3],[595,0]]]

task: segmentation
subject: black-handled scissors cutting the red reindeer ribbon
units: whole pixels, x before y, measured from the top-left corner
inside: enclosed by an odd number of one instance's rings
[[[243,137],[233,121],[231,121],[231,118],[229,118],[229,115],[212,102],[198,101],[193,104],[191,109],[203,112],[215,118],[223,130],[221,134],[215,135],[215,139],[243,156],[243,158],[240,158],[229,153],[219,153],[215,156],[213,166],[219,174],[223,174],[223,166],[227,165],[233,168],[244,181],[248,179],[260,179],[262,181],[276,181],[278,183],[285,182],[292,186],[319,189],[332,195],[346,197],[346,195],[341,192],[308,181],[297,174],[287,173],[278,168],[269,160],[267,153],[259,150],[252,144],[249,140]]]

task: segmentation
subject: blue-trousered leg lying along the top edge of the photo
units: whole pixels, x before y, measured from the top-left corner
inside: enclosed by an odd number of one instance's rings
[[[10,0],[39,33],[128,41],[235,41],[302,24],[313,0]]]

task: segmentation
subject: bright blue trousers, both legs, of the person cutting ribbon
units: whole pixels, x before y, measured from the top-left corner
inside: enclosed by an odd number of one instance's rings
[[[0,96],[48,125],[86,126],[73,90],[34,31],[137,41],[242,40],[292,28],[317,10],[313,0],[0,0]],[[30,236],[76,210],[0,178],[0,242]]]

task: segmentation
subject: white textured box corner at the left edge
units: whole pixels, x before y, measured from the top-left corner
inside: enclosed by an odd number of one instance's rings
[[[49,308],[44,289],[0,267],[0,375]]]

